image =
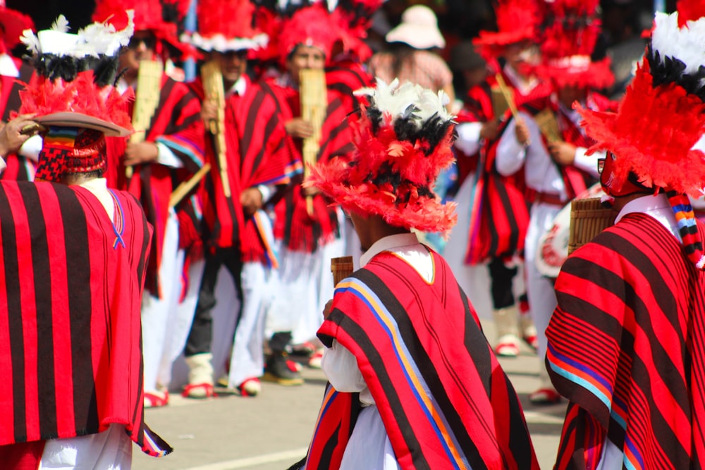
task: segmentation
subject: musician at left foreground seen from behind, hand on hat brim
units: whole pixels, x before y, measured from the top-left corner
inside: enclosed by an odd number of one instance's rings
[[[132,128],[130,94],[112,84],[133,23],[78,35],[63,17],[55,25],[27,35],[37,79],[0,132],[6,151],[26,138],[26,116],[44,126],[35,183],[0,182],[0,466],[130,469],[130,441],[155,457],[171,452],[143,419],[152,226],[103,178],[104,135]]]

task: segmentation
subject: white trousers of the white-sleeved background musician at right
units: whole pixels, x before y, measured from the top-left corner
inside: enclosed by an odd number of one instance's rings
[[[562,209],[553,204],[537,203],[532,206],[529,229],[527,230],[525,248],[525,269],[527,273],[527,295],[529,296],[529,309],[531,310],[534,326],[536,326],[539,339],[539,349],[537,355],[541,361],[541,369],[545,369],[544,356],[546,355],[546,328],[551,320],[553,310],[556,309],[556,293],[553,291],[553,283],[544,275],[539,273],[534,264],[539,239],[546,231],[553,227],[553,218]],[[545,381],[547,374],[542,375]],[[541,386],[551,385],[550,382],[542,383]]]

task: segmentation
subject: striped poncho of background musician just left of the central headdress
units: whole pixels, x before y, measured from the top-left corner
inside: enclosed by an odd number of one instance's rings
[[[298,89],[284,87],[276,82],[266,82],[278,102],[283,121],[301,116]],[[328,109],[321,128],[318,161],[329,161],[337,156],[346,158],[353,151],[353,133],[348,125],[348,109],[338,92],[328,91]],[[302,161],[302,140],[288,142],[297,158]],[[295,182],[300,183],[300,180]],[[339,236],[338,215],[330,206],[331,199],[323,194],[313,197],[314,214],[309,216],[306,198],[299,184],[292,185],[275,207],[274,237],[283,240],[288,249],[314,252],[318,246]]]

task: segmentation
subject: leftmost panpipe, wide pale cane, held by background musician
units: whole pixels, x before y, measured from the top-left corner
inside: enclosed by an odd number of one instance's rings
[[[130,144],[144,142],[149,124],[152,123],[154,111],[159,105],[161,94],[161,75],[164,73],[161,63],[157,61],[140,61],[140,71],[137,73],[137,93],[133,109],[132,124],[135,128],[130,135]],[[125,176],[132,178],[133,167],[125,168]]]

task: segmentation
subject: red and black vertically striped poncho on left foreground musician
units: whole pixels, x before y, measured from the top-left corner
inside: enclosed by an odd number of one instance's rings
[[[113,221],[82,187],[0,183],[0,445],[118,423],[145,452],[171,452],[142,409],[152,228],[134,197],[112,194]]]

